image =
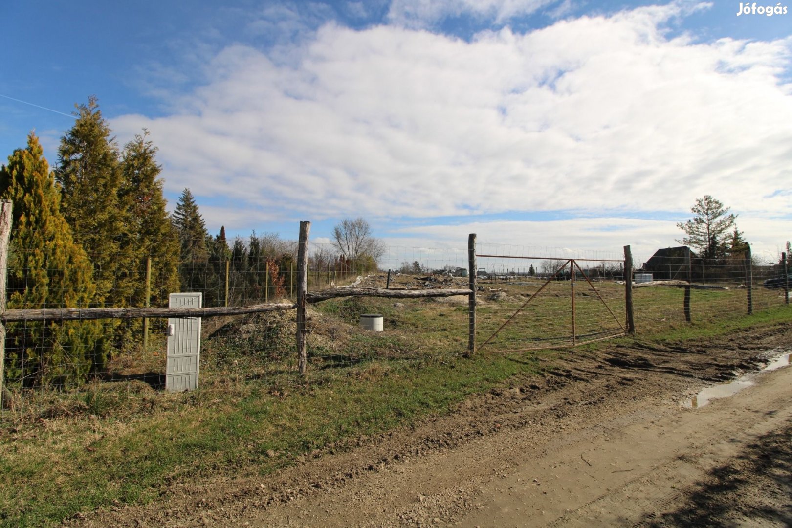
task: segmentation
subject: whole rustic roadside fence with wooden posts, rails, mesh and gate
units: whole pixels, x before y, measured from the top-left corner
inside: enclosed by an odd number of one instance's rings
[[[379,271],[335,256],[330,245],[309,246],[310,222],[302,222],[297,241],[223,243],[177,263],[175,279],[155,256],[142,259],[109,278],[138,287],[111,289],[101,306],[79,304],[63,269],[35,268],[35,248],[9,249],[8,207],[0,215],[6,403],[85,382],[162,388],[171,317],[203,319],[201,386],[254,381],[280,390],[309,372],[314,380],[352,375],[375,360],[570,347],[788,303],[786,285],[763,287],[785,275],[783,264],[750,258],[668,255],[633,266],[629,246],[623,254],[569,252],[477,245],[471,234],[466,249],[387,248],[390,270]],[[633,283],[649,273],[655,280]],[[42,277],[46,297],[31,287]],[[204,307],[167,307],[174,291],[200,291]],[[386,331],[360,330],[364,313],[382,315]]]

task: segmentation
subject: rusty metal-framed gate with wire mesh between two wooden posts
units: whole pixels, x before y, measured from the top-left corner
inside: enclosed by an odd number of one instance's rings
[[[621,336],[618,254],[479,244],[478,348],[523,351]]]

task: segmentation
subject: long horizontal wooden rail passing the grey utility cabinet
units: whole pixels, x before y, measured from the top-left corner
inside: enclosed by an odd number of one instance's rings
[[[137,319],[141,317],[215,317],[244,313],[294,310],[291,302],[271,302],[251,306],[219,306],[215,308],[44,308],[6,310],[3,322],[17,321],[89,321],[91,319]]]

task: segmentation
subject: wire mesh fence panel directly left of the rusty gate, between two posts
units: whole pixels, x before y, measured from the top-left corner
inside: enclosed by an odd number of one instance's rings
[[[320,245],[320,251],[323,249]],[[328,251],[331,248],[326,248]],[[388,291],[463,290],[464,250],[383,246],[378,270],[352,273],[333,284]],[[313,288],[311,288],[313,289]],[[461,355],[467,339],[468,296],[427,298],[338,297],[308,313],[309,362],[324,375],[374,376],[394,362]],[[383,331],[360,328],[361,315],[383,316]],[[352,369],[349,373],[346,369]]]

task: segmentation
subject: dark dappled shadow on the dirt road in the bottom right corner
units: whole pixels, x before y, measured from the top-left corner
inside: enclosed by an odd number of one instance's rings
[[[792,424],[761,436],[712,469],[677,511],[641,526],[792,526]]]

